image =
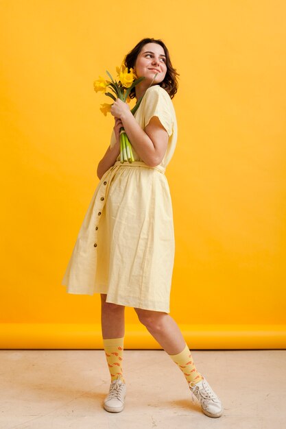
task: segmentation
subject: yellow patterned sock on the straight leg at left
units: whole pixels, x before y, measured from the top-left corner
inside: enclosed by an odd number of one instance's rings
[[[123,339],[124,337],[122,336],[121,338],[103,339],[103,342],[111,381],[120,377],[123,383],[125,383],[122,369]]]

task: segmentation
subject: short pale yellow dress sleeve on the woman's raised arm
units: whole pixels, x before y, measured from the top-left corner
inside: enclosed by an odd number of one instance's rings
[[[169,136],[174,129],[173,103],[165,89],[160,86],[151,86],[145,93],[144,100],[144,128],[152,117],[158,117]]]

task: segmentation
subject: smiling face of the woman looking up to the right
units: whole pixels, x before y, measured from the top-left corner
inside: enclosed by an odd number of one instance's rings
[[[146,43],[141,49],[134,64],[134,71],[138,77],[144,76],[143,82],[150,84],[154,75],[158,73],[153,84],[159,84],[167,73],[165,51],[158,43]]]

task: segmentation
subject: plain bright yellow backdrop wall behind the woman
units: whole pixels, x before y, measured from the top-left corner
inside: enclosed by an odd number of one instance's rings
[[[60,284],[113,126],[93,80],[144,37],[180,73],[171,316],[192,348],[283,348],[283,1],[3,1],[1,346],[102,348]],[[156,285],[154,285],[156,287]],[[160,348],[126,308],[126,348]]]

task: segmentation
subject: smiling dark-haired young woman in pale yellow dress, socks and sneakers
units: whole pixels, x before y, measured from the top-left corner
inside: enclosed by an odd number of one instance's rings
[[[117,99],[110,146],[99,162],[99,184],[80,228],[62,284],[68,293],[100,293],[102,336],[110,390],[104,408],[123,410],[125,306],[154,336],[184,373],[192,399],[209,417],[223,412],[219,397],[195,368],[189,347],[169,313],[174,265],[174,223],[165,169],[174,154],[177,123],[171,98],[177,91],[176,70],[162,40],[145,38],[128,53],[125,64],[144,76],[130,93],[143,99],[134,116]],[[154,79],[154,75],[157,76]],[[152,85],[151,85],[152,84]],[[150,86],[151,85],[151,86]],[[134,162],[120,162],[119,130],[132,144]]]

